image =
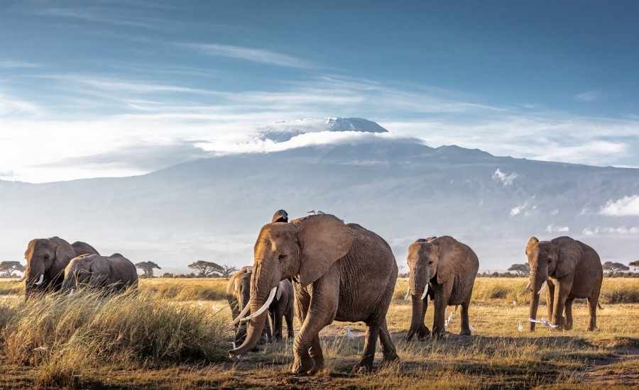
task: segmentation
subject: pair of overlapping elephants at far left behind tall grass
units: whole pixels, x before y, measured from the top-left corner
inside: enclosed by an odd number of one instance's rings
[[[79,287],[107,292],[124,291],[137,286],[138,273],[133,263],[116,253],[109,257],[94,247],[62,238],[38,238],[28,243],[24,272],[26,297],[45,291],[70,294]]]

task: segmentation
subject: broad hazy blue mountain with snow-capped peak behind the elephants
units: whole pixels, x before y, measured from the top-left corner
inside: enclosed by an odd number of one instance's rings
[[[367,134],[211,157],[138,177],[0,182],[0,258],[19,259],[31,238],[60,235],[168,271],[185,272],[195,260],[239,266],[252,262],[256,235],[278,208],[290,216],[319,209],[361,223],[388,240],[400,265],[408,245],[430,235],[463,240],[483,270],[524,262],[531,235],[572,235],[603,261],[628,262],[639,252],[639,213],[628,207],[639,202],[639,169],[433,148],[380,136],[381,126],[363,130],[368,121],[341,122],[324,121]]]

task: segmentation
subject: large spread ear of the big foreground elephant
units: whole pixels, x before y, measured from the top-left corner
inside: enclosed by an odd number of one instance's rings
[[[300,284],[308,286],[326,273],[331,265],[351,250],[354,233],[330,214],[307,216],[296,221],[300,225],[302,247]]]

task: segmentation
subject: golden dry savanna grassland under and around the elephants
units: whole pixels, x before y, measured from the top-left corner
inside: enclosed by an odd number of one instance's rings
[[[142,279],[138,293],[103,298],[83,291],[28,302],[19,295],[20,284],[0,280],[0,387],[639,386],[639,279],[604,279],[595,332],[586,331],[585,301],[576,301],[574,330],[537,325],[530,333],[527,279],[478,278],[470,309],[473,336],[456,335],[459,314],[449,307],[451,334],[409,343],[403,341],[411,314],[404,300],[407,283],[398,281],[388,313],[400,362],[382,365],[378,351],[373,373],[352,372],[364,345],[364,324],[334,323],[320,333],[325,369],[314,377],[292,377],[290,341],[240,360],[226,357],[232,332],[224,279]],[[540,305],[542,316],[547,313]]]

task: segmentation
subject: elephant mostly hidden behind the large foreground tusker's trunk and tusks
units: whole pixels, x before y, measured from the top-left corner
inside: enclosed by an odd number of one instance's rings
[[[251,295],[251,274],[253,267],[248,265],[232,274],[229,282],[226,284],[226,301],[229,302],[233,317],[239,316],[240,311],[248,308],[249,298]],[[246,323],[236,323],[234,345],[239,345],[246,338]],[[268,325],[268,323],[267,323]],[[266,326],[261,335],[261,343],[268,342],[271,337],[271,327]]]

